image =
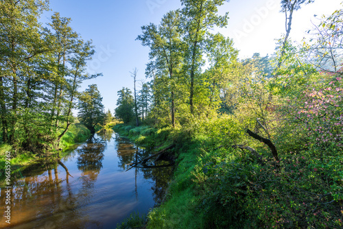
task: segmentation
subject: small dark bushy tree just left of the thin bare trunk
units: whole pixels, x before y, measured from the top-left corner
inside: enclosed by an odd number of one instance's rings
[[[122,88],[118,91],[117,108],[115,108],[115,117],[121,119],[124,123],[130,123],[134,115],[134,97],[129,88]]]

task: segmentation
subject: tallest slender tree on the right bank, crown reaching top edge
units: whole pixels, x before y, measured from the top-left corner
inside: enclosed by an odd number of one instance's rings
[[[204,37],[209,28],[224,27],[227,25],[228,13],[224,16],[217,15],[217,7],[224,4],[224,0],[181,0],[182,5],[182,29],[185,31],[185,70],[189,73],[189,105],[191,115],[194,111],[194,88],[196,75],[200,73],[202,53],[204,49]]]

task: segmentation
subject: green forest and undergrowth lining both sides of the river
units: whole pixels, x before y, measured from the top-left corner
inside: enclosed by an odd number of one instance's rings
[[[161,205],[117,228],[342,228],[343,8],[299,43],[293,14],[314,0],[281,0],[275,52],[240,59],[215,32],[230,23],[225,2],[181,0],[142,25],[146,79],[128,69],[113,117],[96,84],[78,91],[102,73],[87,73],[94,47],[71,19],[42,25],[47,1],[1,1],[0,155],[58,154],[113,129],[175,160]]]

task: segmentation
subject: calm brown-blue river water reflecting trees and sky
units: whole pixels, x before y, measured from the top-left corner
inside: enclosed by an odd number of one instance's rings
[[[0,228],[115,228],[130,213],[147,213],[163,200],[173,169],[127,165],[148,155],[114,132],[95,134],[62,163],[21,171],[12,182],[10,227],[1,217]],[[0,199],[3,215],[4,188]]]

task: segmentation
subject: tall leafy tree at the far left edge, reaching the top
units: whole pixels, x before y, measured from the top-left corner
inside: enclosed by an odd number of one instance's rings
[[[43,10],[47,10],[47,1],[0,1],[0,101],[2,140],[5,143],[14,143],[23,99],[20,88],[27,79],[27,65],[32,58],[47,50],[42,47],[38,23]]]

